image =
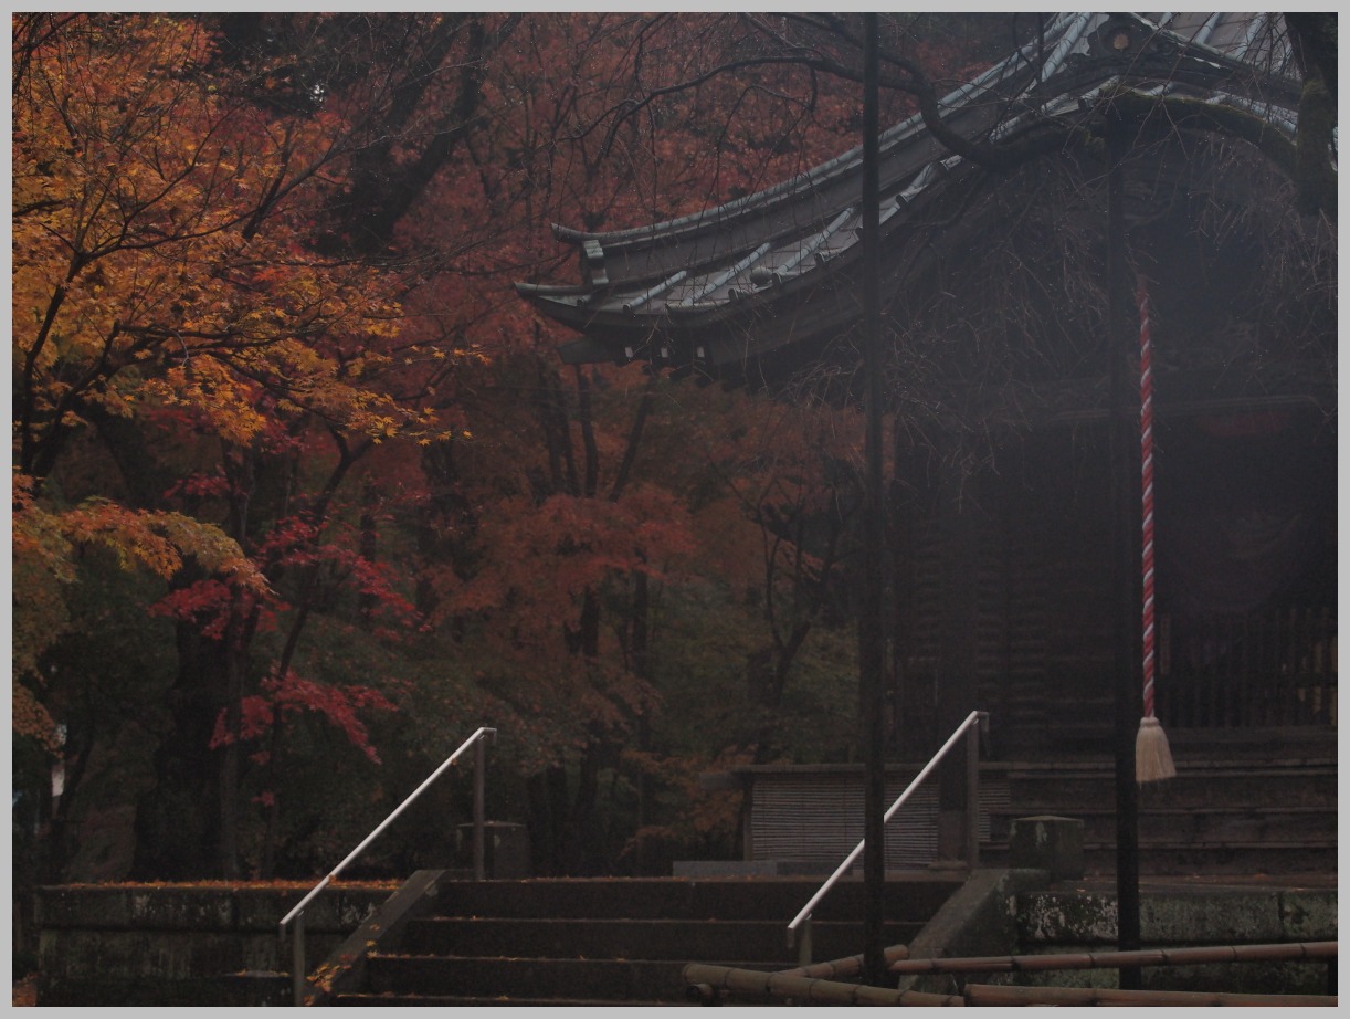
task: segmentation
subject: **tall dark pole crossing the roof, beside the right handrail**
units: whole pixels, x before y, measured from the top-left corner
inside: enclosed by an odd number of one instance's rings
[[[865,13],[863,47],[863,366],[867,379],[863,513],[863,614],[859,619],[859,687],[867,733],[863,883],[867,983],[886,983],[886,633],[882,619],[886,526],[882,499],[882,279],[880,142],[878,131],[876,15]]]

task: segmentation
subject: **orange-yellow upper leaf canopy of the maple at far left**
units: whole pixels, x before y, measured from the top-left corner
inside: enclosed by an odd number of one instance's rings
[[[340,121],[224,101],[184,73],[209,38],[193,19],[77,16],[15,89],[23,467],[92,405],[181,409],[238,445],[279,418],[383,437],[413,422],[373,389],[389,363],[374,348],[402,328],[397,282],[315,256],[302,232]],[[153,543],[146,553],[163,566]]]

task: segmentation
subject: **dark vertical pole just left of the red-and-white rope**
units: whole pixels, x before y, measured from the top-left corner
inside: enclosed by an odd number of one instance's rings
[[[1107,344],[1111,378],[1111,540],[1115,615],[1115,895],[1120,952],[1139,947],[1139,790],[1134,740],[1143,710],[1139,575],[1139,404],[1134,383],[1135,329],[1127,321],[1130,287],[1125,240],[1126,126],[1107,112]],[[1138,968],[1120,970],[1120,987],[1138,991]]]

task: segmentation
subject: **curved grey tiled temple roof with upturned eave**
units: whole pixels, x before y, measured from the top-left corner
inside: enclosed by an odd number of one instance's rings
[[[1300,82],[1280,15],[1058,15],[1045,45],[994,65],[940,101],[944,123],[972,142],[1031,138],[1046,123],[1080,121],[1116,85],[1254,113],[1292,138]],[[880,139],[882,231],[976,171],[918,115]],[[578,285],[517,283],[545,314],[583,333],[566,362],[745,363],[837,329],[806,294],[829,289],[857,258],[861,148],[736,201],[636,229],[555,227],[578,248]],[[852,313],[852,312],[850,312]],[[821,317],[824,316],[824,317]],[[790,321],[744,339],[748,323]],[[814,329],[814,332],[813,332]],[[753,332],[751,329],[749,332]]]

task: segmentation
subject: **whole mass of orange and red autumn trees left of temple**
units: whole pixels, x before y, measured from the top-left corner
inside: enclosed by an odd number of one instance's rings
[[[563,367],[512,289],[571,271],[551,221],[852,147],[819,28],[14,15],[14,718],[66,768],[54,845],[131,767],[138,873],[313,873],[495,725],[540,871],[657,866],[636,831],[733,833],[698,768],[850,738],[848,412]]]

